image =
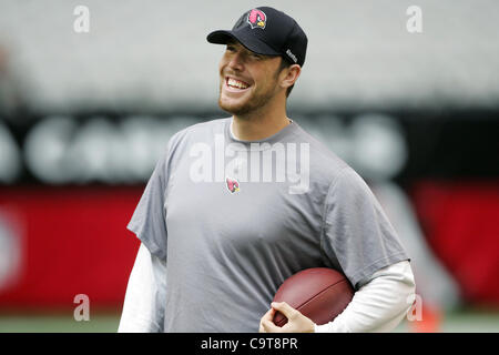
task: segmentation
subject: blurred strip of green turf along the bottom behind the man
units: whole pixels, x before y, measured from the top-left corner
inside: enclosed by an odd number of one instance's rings
[[[72,313],[57,315],[0,315],[0,333],[114,333],[119,314],[95,314],[90,321],[77,322]],[[499,312],[461,311],[448,314],[441,325],[447,333],[499,333]],[[396,332],[408,332],[404,322]]]

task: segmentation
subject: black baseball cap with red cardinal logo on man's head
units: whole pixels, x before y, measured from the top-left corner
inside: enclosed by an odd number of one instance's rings
[[[293,64],[303,67],[308,39],[298,23],[283,11],[261,7],[246,11],[232,30],[213,31],[210,43],[226,44],[235,39],[252,52],[282,55]]]

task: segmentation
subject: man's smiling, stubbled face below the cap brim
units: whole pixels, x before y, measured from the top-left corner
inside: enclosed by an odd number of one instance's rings
[[[238,42],[228,42],[218,65],[218,105],[237,115],[265,106],[279,90],[281,60],[281,57],[256,54]]]

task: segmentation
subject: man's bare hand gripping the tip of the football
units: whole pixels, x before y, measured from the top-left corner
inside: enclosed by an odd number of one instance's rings
[[[314,322],[286,302],[273,302],[271,306],[272,308],[259,321],[259,333],[314,333]],[[273,322],[277,311],[287,318],[287,323],[282,327],[275,325]]]

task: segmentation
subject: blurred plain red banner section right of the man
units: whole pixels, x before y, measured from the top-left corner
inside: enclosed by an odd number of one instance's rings
[[[464,298],[499,305],[499,179],[419,182],[413,196],[426,236]]]

